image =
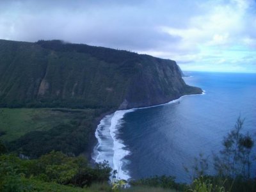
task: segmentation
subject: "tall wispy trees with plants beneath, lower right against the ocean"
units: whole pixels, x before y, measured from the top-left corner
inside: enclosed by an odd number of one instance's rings
[[[244,119],[237,118],[232,131],[223,139],[220,154],[214,154],[217,174],[207,175],[208,161],[200,154],[195,158],[192,191],[255,191],[256,180],[250,178],[251,152],[254,141],[250,134],[243,134]],[[197,179],[195,179],[197,178]]]

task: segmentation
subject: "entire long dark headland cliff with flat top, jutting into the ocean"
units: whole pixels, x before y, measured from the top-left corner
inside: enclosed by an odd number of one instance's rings
[[[2,107],[127,109],[201,92],[172,60],[58,40],[0,40]]]

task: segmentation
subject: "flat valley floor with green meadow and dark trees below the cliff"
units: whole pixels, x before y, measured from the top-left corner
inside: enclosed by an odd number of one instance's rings
[[[79,155],[94,136],[104,109],[0,109],[0,139],[8,150],[40,157],[52,150]]]

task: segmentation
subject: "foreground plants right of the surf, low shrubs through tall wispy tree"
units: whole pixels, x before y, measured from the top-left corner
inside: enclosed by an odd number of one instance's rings
[[[244,119],[240,116],[234,129],[223,139],[223,149],[214,154],[216,175],[207,175],[208,159],[200,154],[191,168],[192,184],[177,184],[174,177],[156,176],[132,181],[132,186],[150,186],[178,191],[195,192],[249,192],[256,191],[256,179],[250,177],[254,141],[247,132],[243,134]],[[188,168],[186,168],[189,170]],[[254,170],[255,171],[255,170]]]

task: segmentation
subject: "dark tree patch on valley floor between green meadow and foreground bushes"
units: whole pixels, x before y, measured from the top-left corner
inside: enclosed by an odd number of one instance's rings
[[[33,158],[47,154],[51,150],[77,155],[83,152],[88,143],[89,130],[76,125],[60,124],[49,131],[29,132],[10,143],[10,149]]]

